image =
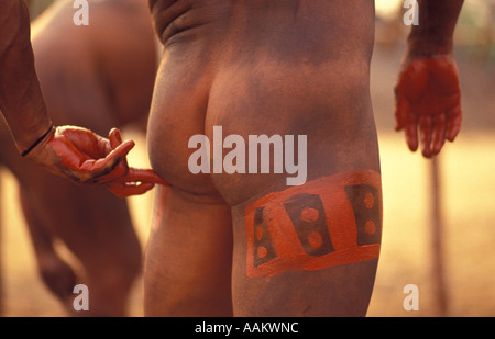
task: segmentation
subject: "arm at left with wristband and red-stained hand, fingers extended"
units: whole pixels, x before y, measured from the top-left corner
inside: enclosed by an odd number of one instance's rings
[[[40,142],[53,123],[34,69],[29,11],[21,0],[6,0],[0,4],[0,110],[19,151],[76,183],[108,184],[118,179],[119,184],[110,190],[120,196],[141,194],[163,183],[150,172],[141,176],[143,172],[132,171],[132,177],[125,177],[124,158],[133,142],[114,139],[112,147],[110,140],[84,128],[72,131],[72,126],[55,126],[50,136]],[[98,151],[95,151],[96,145]],[[131,178],[133,182],[122,184]]]

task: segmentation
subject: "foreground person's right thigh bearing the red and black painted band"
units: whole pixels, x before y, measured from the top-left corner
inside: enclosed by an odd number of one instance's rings
[[[380,173],[354,170],[233,207],[239,316],[364,316],[382,235]]]

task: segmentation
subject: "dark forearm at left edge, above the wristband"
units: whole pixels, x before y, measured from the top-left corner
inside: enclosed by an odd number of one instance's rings
[[[52,124],[34,69],[30,18],[23,0],[0,1],[0,111],[21,152]]]

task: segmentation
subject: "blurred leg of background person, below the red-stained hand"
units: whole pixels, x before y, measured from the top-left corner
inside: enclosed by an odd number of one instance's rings
[[[48,289],[74,313],[74,286],[88,285],[90,309],[74,315],[127,315],[130,290],[141,270],[141,246],[127,202],[106,190],[76,187],[38,170],[31,170],[29,180],[33,181],[23,181],[21,188],[22,205]],[[59,258],[54,239],[80,261],[80,276]]]

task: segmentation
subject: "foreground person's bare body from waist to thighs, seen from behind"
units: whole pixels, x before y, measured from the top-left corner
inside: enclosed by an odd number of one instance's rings
[[[153,169],[172,189],[157,196],[145,261],[146,314],[364,315],[377,256],[309,269],[305,261],[299,269],[292,261],[294,248],[274,230],[286,227],[280,222],[267,228],[276,242],[273,256],[283,264],[274,263],[268,273],[256,271],[256,260],[268,257],[266,246],[260,245],[262,228],[254,245],[250,240],[253,216],[248,211],[267,194],[293,194],[285,191],[286,173],[194,174],[188,142],[194,135],[213,140],[215,126],[222,127],[223,137],[244,140],[249,135],[306,135],[308,183],[318,187],[318,180],[333,176],[358,182],[363,170],[380,178],[370,99],[373,1],[150,3],[166,52],[152,103],[148,146]],[[331,191],[328,187],[327,193]],[[321,199],[327,207],[340,203]],[[275,211],[274,200],[268,201],[263,217],[272,223],[278,215],[267,214]],[[380,223],[378,210],[373,213]],[[355,231],[349,230],[355,223],[342,233]],[[331,241],[338,247],[339,231],[334,236]],[[310,245],[321,247],[318,241]]]

